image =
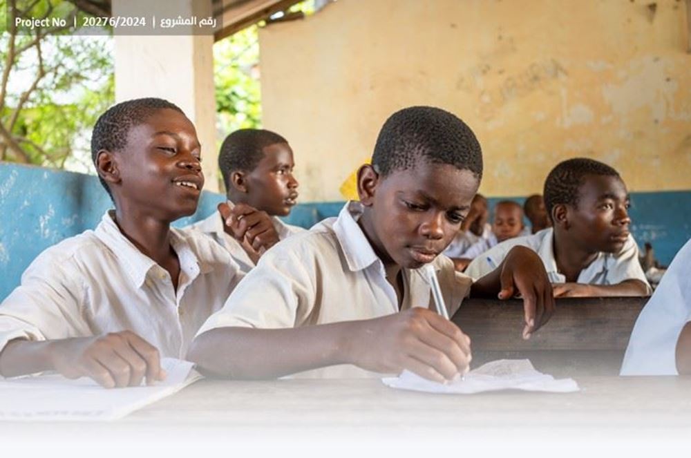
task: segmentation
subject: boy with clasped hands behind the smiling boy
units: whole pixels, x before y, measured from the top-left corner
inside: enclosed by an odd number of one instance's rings
[[[254,128],[231,133],[218,155],[229,203],[192,227],[214,238],[249,272],[263,251],[305,230],[276,218],[287,216],[297,203],[294,165],[293,151],[281,135]]]

